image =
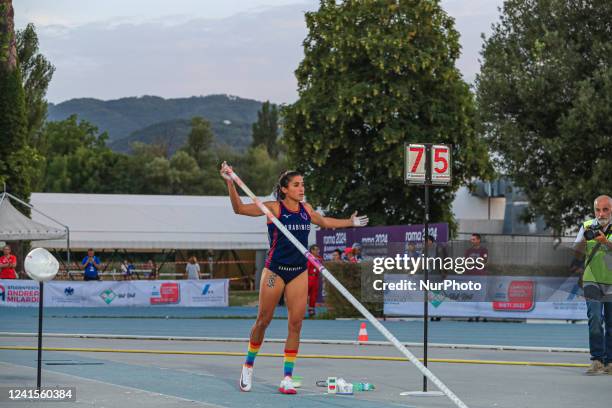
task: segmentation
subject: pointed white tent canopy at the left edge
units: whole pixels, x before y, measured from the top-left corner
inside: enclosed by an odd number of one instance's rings
[[[63,229],[29,219],[13,207],[8,194],[0,193],[0,241],[59,239],[65,236],[66,231]],[[61,242],[64,248],[66,242]]]

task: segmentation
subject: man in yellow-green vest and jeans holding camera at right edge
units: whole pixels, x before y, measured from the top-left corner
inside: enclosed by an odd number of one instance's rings
[[[587,375],[612,374],[612,199],[595,199],[595,219],[585,221],[575,249],[584,254],[582,278],[589,318],[591,366]]]

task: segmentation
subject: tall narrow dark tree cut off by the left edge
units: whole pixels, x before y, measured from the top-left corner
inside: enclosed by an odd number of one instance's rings
[[[31,182],[40,156],[27,144],[27,118],[17,59],[13,5],[0,0],[0,181],[29,201]],[[29,210],[22,211],[29,215]]]

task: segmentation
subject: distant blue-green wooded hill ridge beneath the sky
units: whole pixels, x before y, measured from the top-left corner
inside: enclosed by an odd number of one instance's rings
[[[167,143],[174,151],[184,144],[190,119],[202,116],[211,122],[218,143],[243,150],[251,144],[251,125],[257,121],[261,105],[229,95],[178,99],[142,96],[111,101],[80,98],[49,104],[47,120],[76,114],[108,132],[109,145],[116,151],[127,152],[133,141]]]

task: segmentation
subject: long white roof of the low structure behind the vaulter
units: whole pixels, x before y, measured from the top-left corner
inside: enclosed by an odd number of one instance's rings
[[[31,203],[70,227],[72,249],[268,248],[265,217],[234,214],[227,196],[33,193]],[[65,248],[59,240],[36,244]]]

